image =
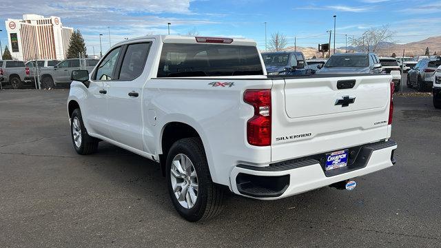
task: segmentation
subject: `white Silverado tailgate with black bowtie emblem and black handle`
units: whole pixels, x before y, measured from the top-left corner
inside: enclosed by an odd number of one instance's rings
[[[274,79],[271,160],[384,140],[391,76]]]

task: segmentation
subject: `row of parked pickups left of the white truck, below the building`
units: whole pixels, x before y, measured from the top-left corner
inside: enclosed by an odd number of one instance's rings
[[[68,86],[72,82],[73,70],[92,70],[97,59],[65,59],[63,61],[41,59],[37,61],[0,61],[0,85],[10,85],[14,89],[25,86],[36,87],[39,78],[43,89],[57,86]],[[38,72],[38,73],[37,73]]]

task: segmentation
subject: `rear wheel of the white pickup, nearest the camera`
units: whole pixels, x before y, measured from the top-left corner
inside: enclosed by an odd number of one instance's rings
[[[174,208],[190,222],[208,220],[222,210],[224,192],[212,181],[199,138],[183,138],[172,145],[167,184]]]

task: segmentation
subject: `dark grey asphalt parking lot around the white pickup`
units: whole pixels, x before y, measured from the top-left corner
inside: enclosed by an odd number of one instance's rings
[[[151,161],[100,143],[79,156],[68,90],[0,91],[0,247],[440,247],[441,111],[396,96],[398,163],[278,201],[229,196],[223,214],[187,223]]]

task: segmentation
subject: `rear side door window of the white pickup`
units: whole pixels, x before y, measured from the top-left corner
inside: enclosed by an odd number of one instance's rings
[[[119,80],[132,81],[140,76],[143,73],[149,50],[150,43],[128,45],[121,65]]]

